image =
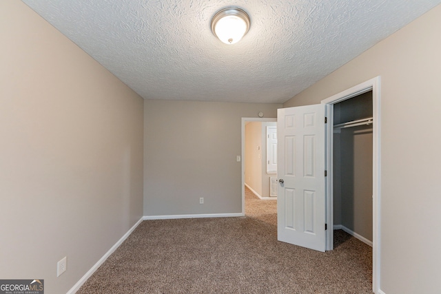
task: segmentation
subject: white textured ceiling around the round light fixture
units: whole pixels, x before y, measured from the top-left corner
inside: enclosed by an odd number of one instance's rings
[[[441,0],[23,0],[146,99],[283,103]],[[213,15],[247,11],[234,45]]]

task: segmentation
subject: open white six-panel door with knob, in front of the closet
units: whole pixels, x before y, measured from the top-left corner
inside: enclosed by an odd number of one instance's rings
[[[325,251],[325,105],[278,109],[279,241]]]

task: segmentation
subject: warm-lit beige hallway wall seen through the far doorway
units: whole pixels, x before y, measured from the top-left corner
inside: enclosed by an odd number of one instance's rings
[[[262,194],[262,123],[245,125],[245,184]],[[266,156],[266,154],[265,154]]]

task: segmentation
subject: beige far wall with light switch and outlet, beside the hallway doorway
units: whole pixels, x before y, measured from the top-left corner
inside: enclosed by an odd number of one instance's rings
[[[144,103],[145,216],[241,213],[243,117],[276,117],[281,104]],[[199,198],[205,204],[199,204]]]

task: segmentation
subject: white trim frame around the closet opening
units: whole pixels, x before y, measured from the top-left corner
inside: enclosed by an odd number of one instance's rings
[[[328,171],[326,178],[327,194],[327,250],[334,249],[334,195],[333,195],[333,134],[334,134],[334,104],[353,98],[365,92],[372,91],[372,290],[378,293],[380,290],[380,76],[371,78],[369,81],[360,83],[348,90],[335,94],[321,101],[325,104],[325,114],[327,116],[327,138],[325,166]]]

